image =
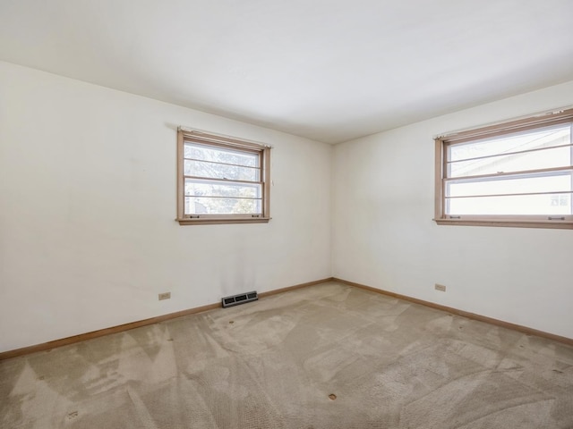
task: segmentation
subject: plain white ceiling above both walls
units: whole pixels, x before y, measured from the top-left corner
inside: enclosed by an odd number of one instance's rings
[[[0,0],[0,59],[338,143],[573,80],[573,0]]]

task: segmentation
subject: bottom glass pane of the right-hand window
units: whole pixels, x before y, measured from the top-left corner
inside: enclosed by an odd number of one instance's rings
[[[448,214],[571,214],[571,194],[453,198]]]

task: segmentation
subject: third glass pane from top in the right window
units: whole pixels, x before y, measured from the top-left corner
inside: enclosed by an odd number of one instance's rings
[[[565,173],[526,178],[500,177],[488,181],[450,181],[446,186],[446,196],[463,197],[571,190],[573,190],[571,188],[571,174]]]

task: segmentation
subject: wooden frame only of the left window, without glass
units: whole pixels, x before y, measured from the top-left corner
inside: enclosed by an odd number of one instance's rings
[[[261,214],[185,214],[184,145],[193,142],[213,148],[227,148],[259,154],[261,164]],[[226,223],[269,223],[270,217],[270,146],[246,139],[214,134],[184,127],[177,129],[177,217],[180,225]],[[209,180],[209,178],[206,178]]]

